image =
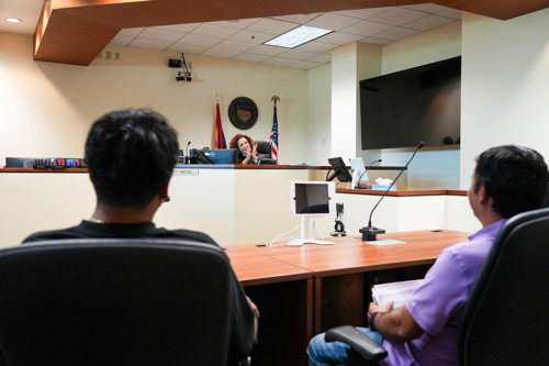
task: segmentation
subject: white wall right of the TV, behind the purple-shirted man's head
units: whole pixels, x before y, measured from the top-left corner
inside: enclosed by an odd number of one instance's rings
[[[549,9],[505,22],[463,14],[462,189],[491,146],[526,145],[549,160],[548,24]]]

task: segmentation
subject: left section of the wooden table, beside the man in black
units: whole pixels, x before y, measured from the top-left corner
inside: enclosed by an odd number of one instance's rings
[[[313,336],[313,273],[264,255],[255,245],[226,248],[248,297],[260,312],[253,365],[306,365]]]

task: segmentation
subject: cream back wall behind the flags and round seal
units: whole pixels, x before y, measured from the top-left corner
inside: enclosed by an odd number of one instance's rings
[[[187,56],[193,81],[184,84],[176,81],[177,69],[167,66],[168,58],[181,57],[176,53],[109,45],[101,58],[82,67],[34,62],[31,36],[0,33],[0,164],[5,156],[81,157],[91,122],[127,107],[165,114],[183,147],[188,141],[191,147],[212,146],[217,93],[227,141],[242,132],[227,115],[234,98],[244,96],[256,102],[258,121],[244,132],[268,140],[270,100],[279,96],[280,160],[307,159],[305,70]]]

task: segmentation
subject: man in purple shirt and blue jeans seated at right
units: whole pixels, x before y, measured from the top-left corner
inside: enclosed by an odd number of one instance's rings
[[[358,328],[388,351],[381,365],[458,365],[457,339],[463,309],[492,243],[511,217],[541,207],[549,173],[536,151],[514,145],[483,152],[468,191],[482,229],[444,249],[404,307],[368,310],[369,329]],[[307,347],[310,365],[349,364],[356,354],[324,334]]]

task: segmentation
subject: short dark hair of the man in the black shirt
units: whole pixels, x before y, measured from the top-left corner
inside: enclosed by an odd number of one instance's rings
[[[178,152],[177,132],[161,114],[126,109],[101,117],[85,152],[98,201],[144,208],[171,177]]]

